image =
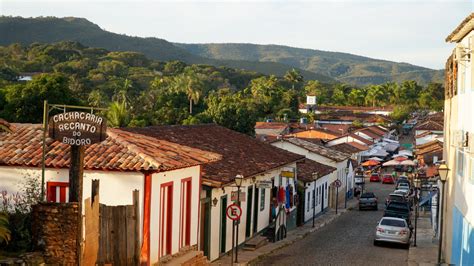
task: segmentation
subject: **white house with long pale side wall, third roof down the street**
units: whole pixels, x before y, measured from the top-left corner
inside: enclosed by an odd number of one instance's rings
[[[298,138],[280,139],[271,143],[273,146],[304,155],[307,159],[329,165],[336,168],[336,171],[329,178],[330,185],[340,180],[342,186],[339,191],[348,191],[349,180],[347,178],[346,169],[349,166],[350,154],[346,154],[331,148],[310,142],[308,140]],[[329,196],[332,206],[335,205],[335,188],[332,186]],[[345,193],[339,193],[339,202],[344,201]],[[340,206],[340,205],[339,205]]]

